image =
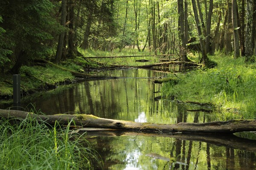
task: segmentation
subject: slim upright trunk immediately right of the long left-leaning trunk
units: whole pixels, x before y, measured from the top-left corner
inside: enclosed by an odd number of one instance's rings
[[[213,10],[213,0],[209,0],[209,11],[208,11],[208,17],[206,20],[206,40],[205,40],[206,53],[209,53],[209,52],[211,53],[210,33],[211,33],[211,25],[212,25],[212,10]]]

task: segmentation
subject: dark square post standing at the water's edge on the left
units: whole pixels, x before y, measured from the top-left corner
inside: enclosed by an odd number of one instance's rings
[[[13,78],[13,104],[15,106],[20,104],[20,74],[15,74]]]

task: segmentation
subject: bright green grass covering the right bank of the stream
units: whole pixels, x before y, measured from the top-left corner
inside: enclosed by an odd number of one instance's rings
[[[220,120],[256,119],[256,63],[223,55],[210,59],[218,63],[216,68],[177,74],[179,83],[165,83],[162,93],[183,101],[210,102]]]

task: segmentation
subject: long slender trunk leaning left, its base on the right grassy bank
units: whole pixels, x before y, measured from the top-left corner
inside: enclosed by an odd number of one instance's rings
[[[204,63],[205,65],[209,64],[209,58],[207,57],[207,53],[205,50],[205,45],[204,45],[204,40],[202,38],[202,31],[201,31],[201,25],[199,22],[199,18],[198,18],[198,11],[196,8],[196,4],[195,4],[195,0],[192,0],[192,6],[193,6],[193,11],[194,11],[194,16],[195,16],[195,23],[198,29],[198,36],[199,36],[199,40],[200,40],[200,45],[201,45],[201,52],[202,52],[202,58],[200,59],[201,63]]]

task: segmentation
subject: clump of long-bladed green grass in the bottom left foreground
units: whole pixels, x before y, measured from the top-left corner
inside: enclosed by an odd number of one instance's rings
[[[1,170],[80,170],[100,165],[93,146],[81,135],[69,134],[26,118],[0,120]]]

